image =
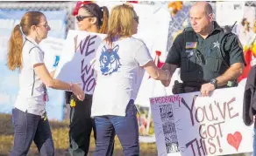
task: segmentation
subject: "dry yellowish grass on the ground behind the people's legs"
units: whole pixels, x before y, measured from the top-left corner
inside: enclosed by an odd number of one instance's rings
[[[68,154],[68,120],[64,122],[50,122],[53,142],[55,146],[55,156],[69,156]],[[91,136],[89,156],[95,149],[95,142]],[[11,153],[13,145],[13,126],[11,124],[11,115],[0,114],[0,156],[8,156]],[[122,156],[122,147],[116,137],[114,156]],[[156,156],[157,150],[155,144],[140,143],[141,156]],[[233,154],[230,156],[244,156],[245,154]],[[39,156],[36,146],[32,143],[28,156]]]

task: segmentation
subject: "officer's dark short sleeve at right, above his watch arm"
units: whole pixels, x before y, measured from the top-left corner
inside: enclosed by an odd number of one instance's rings
[[[224,48],[230,54],[230,64],[235,64],[235,63],[245,64],[243,47],[236,35],[233,34],[227,38],[227,42],[224,45]]]

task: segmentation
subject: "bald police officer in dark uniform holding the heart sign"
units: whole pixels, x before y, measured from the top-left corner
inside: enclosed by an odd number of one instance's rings
[[[174,84],[174,93],[200,91],[209,96],[217,88],[232,86],[242,74],[243,49],[236,35],[224,32],[213,21],[210,3],[195,3],[189,16],[192,28],[175,38],[162,68],[171,74],[181,68],[183,83]],[[168,86],[170,81],[161,83]]]

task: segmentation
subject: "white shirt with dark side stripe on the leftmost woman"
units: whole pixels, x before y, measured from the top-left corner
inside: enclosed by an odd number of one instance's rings
[[[44,52],[30,37],[22,50],[22,68],[19,71],[19,91],[15,107],[23,112],[42,115],[46,112],[45,85],[33,71],[33,65],[44,63]]]

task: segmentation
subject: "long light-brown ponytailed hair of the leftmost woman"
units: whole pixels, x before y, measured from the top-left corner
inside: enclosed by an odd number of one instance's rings
[[[39,11],[29,11],[21,18],[11,32],[9,40],[7,66],[11,71],[20,68],[22,64],[23,34],[27,36],[32,25],[38,25],[40,17],[44,16]]]

